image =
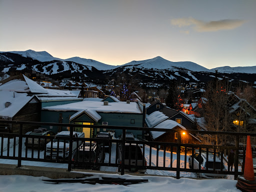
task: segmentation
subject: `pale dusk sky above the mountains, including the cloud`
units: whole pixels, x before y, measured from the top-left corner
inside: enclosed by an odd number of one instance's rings
[[[0,0],[0,51],[256,65],[256,0]]]

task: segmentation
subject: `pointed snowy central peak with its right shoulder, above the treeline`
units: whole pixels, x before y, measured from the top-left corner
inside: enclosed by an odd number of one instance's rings
[[[156,69],[172,69],[173,67],[178,67],[178,68],[189,69],[192,71],[207,71],[207,72],[210,71],[209,69],[199,64],[196,64],[194,62],[190,62],[190,61],[172,62],[160,56],[156,56],[154,58],[146,59],[146,60],[137,60],[137,61],[133,60],[121,66],[126,66],[126,65],[133,65],[136,67],[143,67],[143,68],[156,68]]]

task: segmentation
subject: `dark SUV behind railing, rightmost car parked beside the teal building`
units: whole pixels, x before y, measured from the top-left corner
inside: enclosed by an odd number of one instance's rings
[[[130,165],[136,165],[136,158],[137,158],[137,165],[139,166],[146,166],[146,159],[143,157],[142,150],[139,145],[135,143],[125,143],[125,154],[124,154],[124,172],[139,172],[145,173],[146,169],[138,169],[136,167],[129,166],[129,154],[130,154]],[[118,146],[118,158],[117,162],[121,164],[121,157],[122,157],[122,145]],[[143,164],[144,158],[144,164]],[[121,165],[118,167],[120,171]]]

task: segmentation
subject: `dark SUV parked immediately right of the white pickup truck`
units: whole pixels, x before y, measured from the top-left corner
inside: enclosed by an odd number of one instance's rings
[[[100,144],[96,144],[96,142],[91,142],[91,144],[85,142],[84,144],[82,143],[73,154],[72,168],[92,168],[99,170],[100,165],[97,163],[104,162],[104,159],[105,154]]]

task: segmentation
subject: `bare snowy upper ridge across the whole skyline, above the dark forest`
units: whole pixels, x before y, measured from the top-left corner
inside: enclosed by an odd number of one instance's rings
[[[4,52],[20,54],[24,57],[30,57],[41,62],[53,61],[53,60],[72,61],[85,66],[93,66],[98,70],[111,70],[111,69],[115,69],[122,66],[130,66],[130,67],[134,66],[136,68],[142,67],[147,69],[154,68],[154,69],[169,69],[169,70],[173,70],[173,69],[175,70],[176,68],[180,68],[180,69],[185,69],[185,70],[188,69],[188,70],[197,71],[197,72],[200,72],[200,71],[215,72],[215,70],[217,70],[218,72],[224,72],[224,73],[237,73],[237,72],[256,73],[256,66],[238,66],[238,67],[222,66],[222,67],[215,67],[212,69],[208,69],[195,62],[191,62],[191,61],[173,62],[173,61],[164,59],[161,56],[156,56],[156,57],[145,59],[145,60],[132,60],[130,62],[121,64],[121,65],[109,65],[93,59],[81,58],[78,56],[74,56],[66,59],[57,58],[57,57],[53,57],[51,54],[49,54],[46,51],[34,51],[31,49],[28,49],[25,51],[4,51]],[[0,53],[4,53],[4,52],[1,51]],[[2,58],[2,60],[3,59],[6,60],[8,58]]]

